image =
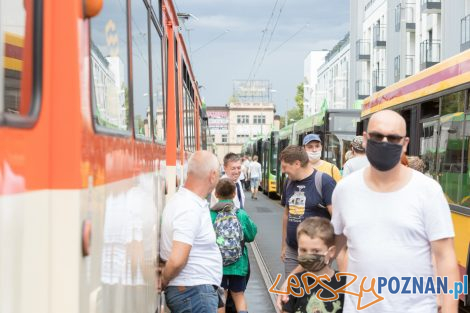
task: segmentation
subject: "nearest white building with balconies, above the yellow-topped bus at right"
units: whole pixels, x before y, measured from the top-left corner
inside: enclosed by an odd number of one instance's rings
[[[351,0],[351,101],[470,48],[469,0]]]

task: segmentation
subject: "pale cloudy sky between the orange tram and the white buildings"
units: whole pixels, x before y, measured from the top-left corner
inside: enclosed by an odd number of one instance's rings
[[[277,113],[283,114],[295,106],[305,57],[331,49],[349,29],[348,0],[174,2],[178,12],[194,16],[180,26],[208,106],[227,104],[233,80],[248,79],[252,72],[252,79],[271,82]]]

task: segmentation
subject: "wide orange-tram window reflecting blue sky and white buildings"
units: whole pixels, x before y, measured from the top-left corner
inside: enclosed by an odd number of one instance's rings
[[[127,11],[104,1],[90,20],[93,120],[98,129],[129,130]]]

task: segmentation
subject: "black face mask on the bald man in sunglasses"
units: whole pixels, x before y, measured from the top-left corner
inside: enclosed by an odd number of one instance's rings
[[[387,141],[367,140],[367,159],[374,168],[386,172],[400,162],[403,146]]]

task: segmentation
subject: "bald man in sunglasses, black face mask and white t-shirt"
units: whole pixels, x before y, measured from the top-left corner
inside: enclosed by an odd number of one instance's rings
[[[449,205],[436,181],[401,164],[409,138],[399,114],[374,114],[363,141],[370,166],[351,173],[333,192],[340,270],[358,276],[349,288],[357,293],[363,277],[368,277],[367,288],[372,277],[395,276],[401,282],[398,293],[382,286],[384,300],[367,312],[437,312],[436,295],[402,294],[402,277],[424,277],[426,282],[437,274],[447,276],[449,286],[458,280]],[[361,303],[376,299],[367,292]],[[440,301],[442,312],[457,312],[452,295],[441,295]],[[347,294],[343,312],[356,312],[357,304],[358,297]]]

